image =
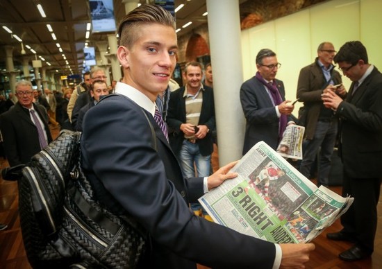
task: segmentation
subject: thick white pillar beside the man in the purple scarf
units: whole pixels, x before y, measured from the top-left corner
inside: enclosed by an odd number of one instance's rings
[[[242,49],[238,0],[207,0],[219,165],[242,157]]]

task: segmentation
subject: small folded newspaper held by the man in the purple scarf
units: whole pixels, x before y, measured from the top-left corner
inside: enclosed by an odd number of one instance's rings
[[[304,126],[296,124],[288,125],[276,151],[285,158],[302,159],[304,132]]]

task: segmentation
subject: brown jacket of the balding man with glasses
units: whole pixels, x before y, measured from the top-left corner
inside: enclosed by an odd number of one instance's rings
[[[342,83],[341,74],[331,69],[334,85]],[[301,69],[299,74],[299,83],[297,84],[297,98],[300,102],[304,102],[306,108],[306,126],[304,137],[313,139],[315,129],[322,110],[323,104],[321,99],[322,89],[326,87],[326,78],[322,69],[317,64],[317,59],[312,64]]]

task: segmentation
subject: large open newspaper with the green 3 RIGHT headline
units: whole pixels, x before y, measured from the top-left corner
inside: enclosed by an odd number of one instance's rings
[[[312,241],[354,200],[324,186],[317,188],[263,141],[231,172],[238,177],[199,202],[215,223],[274,243]]]

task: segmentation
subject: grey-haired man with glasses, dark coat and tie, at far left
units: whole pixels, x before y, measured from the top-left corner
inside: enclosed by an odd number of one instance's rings
[[[31,82],[17,82],[16,96],[18,102],[0,116],[4,151],[10,166],[26,164],[52,140],[47,110],[33,103]]]

